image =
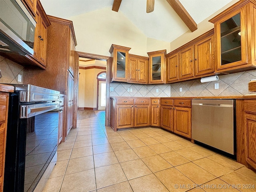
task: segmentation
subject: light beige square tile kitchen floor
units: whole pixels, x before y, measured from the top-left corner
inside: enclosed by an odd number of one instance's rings
[[[104,112],[58,146],[44,192],[254,192],[256,173],[160,128],[114,132]]]

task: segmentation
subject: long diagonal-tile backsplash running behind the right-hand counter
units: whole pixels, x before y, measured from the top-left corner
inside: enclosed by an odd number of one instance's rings
[[[256,79],[256,70],[234,74],[219,75],[218,81],[201,83],[200,79],[174,84],[140,85],[129,83],[110,83],[114,91],[110,96],[126,97],[202,97],[202,96],[240,96],[255,94],[248,91],[248,82]],[[214,89],[214,84],[219,89]],[[132,92],[127,89],[132,88]],[[182,92],[180,92],[182,88]],[[158,90],[158,92],[156,92]]]

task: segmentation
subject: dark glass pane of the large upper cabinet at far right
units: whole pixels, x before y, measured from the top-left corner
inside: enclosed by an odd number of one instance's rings
[[[240,13],[220,24],[221,65],[242,60]]]

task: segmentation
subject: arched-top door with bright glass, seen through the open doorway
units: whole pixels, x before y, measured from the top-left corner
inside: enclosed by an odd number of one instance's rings
[[[97,75],[97,110],[106,109],[106,71]]]

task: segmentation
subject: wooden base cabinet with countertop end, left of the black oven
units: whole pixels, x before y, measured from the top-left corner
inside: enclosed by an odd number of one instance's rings
[[[0,84],[0,192],[4,184],[4,162],[6,152],[6,131],[8,120],[9,93],[14,92],[14,87]]]

